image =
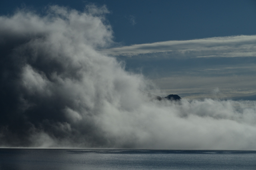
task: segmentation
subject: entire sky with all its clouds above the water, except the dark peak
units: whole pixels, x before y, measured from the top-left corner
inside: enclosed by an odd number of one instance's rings
[[[0,2],[0,147],[256,150],[255,17],[239,0]]]

